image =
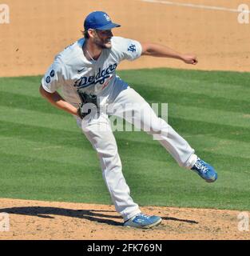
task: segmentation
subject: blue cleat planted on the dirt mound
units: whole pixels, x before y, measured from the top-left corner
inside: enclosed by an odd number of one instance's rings
[[[161,217],[137,214],[133,218],[129,218],[129,220],[124,222],[123,226],[132,226],[141,229],[149,229],[150,227],[157,226],[160,223]]]

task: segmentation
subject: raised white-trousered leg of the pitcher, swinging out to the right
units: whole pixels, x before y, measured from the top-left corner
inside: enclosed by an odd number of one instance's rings
[[[158,118],[149,103],[129,88],[121,91],[113,102],[114,115],[125,118],[128,122],[156,135],[162,146],[173,156],[180,166],[190,169],[197,160],[194,150],[165,120]],[[132,113],[132,117],[131,117]]]

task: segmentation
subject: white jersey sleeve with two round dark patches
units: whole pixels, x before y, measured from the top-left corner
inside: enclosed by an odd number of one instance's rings
[[[63,82],[63,64],[62,62],[55,60],[42,78],[42,87],[44,90],[52,94],[62,86]]]

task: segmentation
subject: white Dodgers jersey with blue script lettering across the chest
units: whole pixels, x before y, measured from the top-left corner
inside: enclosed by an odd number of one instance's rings
[[[42,87],[54,93],[62,87],[65,101],[78,106],[80,98],[78,88],[85,88],[87,93],[100,96],[112,92],[117,83],[127,84],[116,75],[119,62],[124,59],[133,61],[141,56],[140,42],[121,38],[111,38],[111,49],[104,49],[96,61],[89,61],[83,54],[85,38],[67,46],[54,58],[54,63],[42,78]]]

